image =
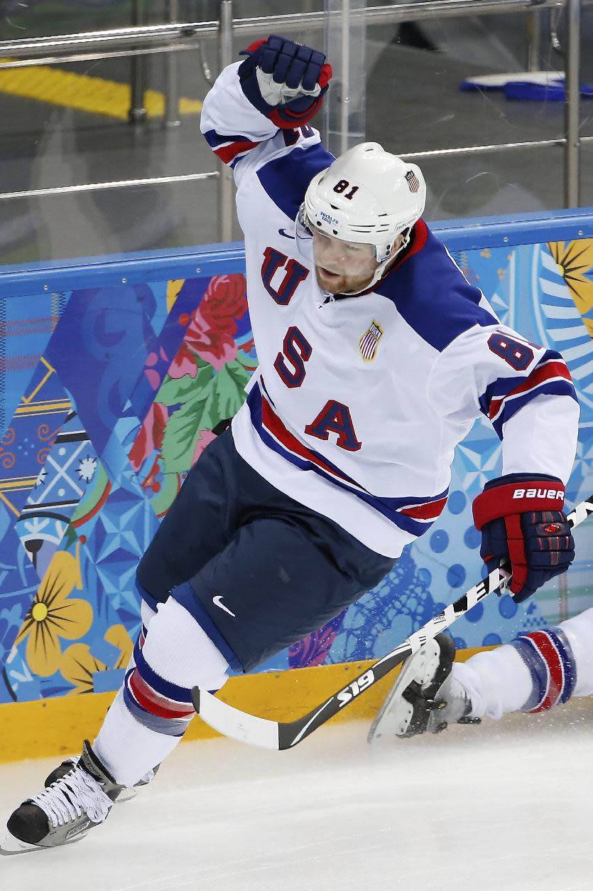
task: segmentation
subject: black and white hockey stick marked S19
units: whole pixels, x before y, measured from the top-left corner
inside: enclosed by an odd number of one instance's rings
[[[575,527],[587,519],[590,513],[593,513],[593,495],[577,504],[566,519],[571,527]],[[215,699],[211,693],[201,690],[199,687],[194,687],[191,691],[193,707],[203,721],[214,727],[219,733],[223,733],[224,736],[231,737],[232,740],[247,742],[249,745],[261,748],[293,748],[314,730],[321,727],[321,724],[337,715],[348,703],[353,702],[361,693],[369,690],[374,683],[393,671],[396,666],[401,665],[405,659],[418,652],[427,639],[435,637],[436,634],[452,625],[460,616],[464,616],[491,591],[500,588],[502,593],[508,588],[510,579],[511,574],[504,566],[493,569],[489,576],[486,576],[479,584],[475,584],[462,597],[459,597],[459,600],[451,603],[444,609],[444,612],[431,618],[419,631],[410,634],[410,637],[399,647],[378,659],[342,690],[338,690],[320,706],[316,706],[303,717],[297,718],[296,721],[270,721],[267,718],[249,715],[247,712],[240,711],[239,708],[227,705],[221,699]]]

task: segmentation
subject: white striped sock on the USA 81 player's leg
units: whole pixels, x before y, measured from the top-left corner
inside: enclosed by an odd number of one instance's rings
[[[93,743],[114,780],[126,786],[160,764],[181,740],[193,715],[191,687],[218,690],[228,668],[188,610],[172,598],[150,619],[135,663]]]

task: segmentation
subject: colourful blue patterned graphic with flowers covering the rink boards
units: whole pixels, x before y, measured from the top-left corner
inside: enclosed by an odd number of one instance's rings
[[[573,504],[593,491],[593,241],[458,252],[503,322],[565,356],[581,399]],[[138,559],[256,367],[243,274],[0,300],[0,702],[115,690],[140,625]],[[471,503],[500,473],[477,421],[440,519],[378,587],[260,670],[378,658],[482,575]],[[591,526],[591,528],[589,528]],[[568,576],[451,629],[510,640],[593,602],[593,524]]]

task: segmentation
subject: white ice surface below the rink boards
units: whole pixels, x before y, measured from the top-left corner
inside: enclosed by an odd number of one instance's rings
[[[593,700],[374,746],[367,730],[185,743],[80,842],[0,859],[0,887],[591,891]],[[0,765],[2,813],[57,760]]]

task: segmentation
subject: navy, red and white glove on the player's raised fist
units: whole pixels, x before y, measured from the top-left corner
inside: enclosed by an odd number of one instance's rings
[[[302,127],[319,110],[328,91],[331,65],[323,53],[271,34],[241,55],[243,93],[276,127]]]

